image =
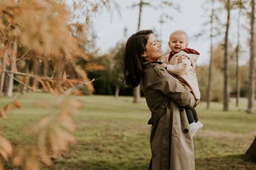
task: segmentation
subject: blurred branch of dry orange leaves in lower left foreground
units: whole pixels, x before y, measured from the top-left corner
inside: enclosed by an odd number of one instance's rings
[[[38,103],[51,112],[27,128],[30,142],[15,148],[14,166],[22,166],[25,170],[40,169],[42,163],[51,166],[51,159],[67,152],[69,144],[75,143],[71,134],[75,131],[72,116],[82,108],[82,101],[71,96],[75,89],[72,87],[65,91],[55,103]]]

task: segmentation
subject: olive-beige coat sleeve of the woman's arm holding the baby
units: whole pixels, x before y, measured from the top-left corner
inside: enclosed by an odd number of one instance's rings
[[[175,101],[182,107],[193,108],[197,105],[193,94],[168,73],[163,74],[163,76],[152,85],[152,88],[161,91],[166,97],[172,99],[172,101]]]

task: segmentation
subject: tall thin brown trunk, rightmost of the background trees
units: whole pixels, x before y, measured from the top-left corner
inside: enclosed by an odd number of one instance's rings
[[[248,106],[247,113],[253,112],[254,102],[254,85],[255,85],[255,69],[254,69],[254,21],[255,21],[255,0],[251,0],[251,40],[250,40],[250,66],[249,66],[249,90],[248,90]]]

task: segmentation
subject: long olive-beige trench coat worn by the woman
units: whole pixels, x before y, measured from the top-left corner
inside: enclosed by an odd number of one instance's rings
[[[193,94],[160,62],[143,65],[143,91],[152,112],[152,170],[194,170],[194,148],[183,107],[195,107]]]

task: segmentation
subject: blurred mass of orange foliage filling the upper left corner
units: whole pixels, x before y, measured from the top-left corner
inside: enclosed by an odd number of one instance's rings
[[[11,48],[11,43],[18,40],[18,44],[28,52],[31,50],[36,56],[52,60],[55,66],[54,76],[58,80],[63,77],[61,60],[66,60],[71,63],[75,73],[82,77],[82,81],[89,81],[86,73],[74,64],[74,56],[86,58],[86,54],[77,46],[77,40],[70,36],[67,26],[69,11],[64,4],[33,0],[1,1],[0,6],[0,42],[3,43],[7,61],[11,60],[15,65],[15,59],[11,55],[16,55],[16,51]],[[26,53],[18,59],[21,60]],[[3,68],[3,71],[7,70]],[[17,68],[11,71],[17,71]],[[88,89],[93,91],[92,85],[88,85]]]

